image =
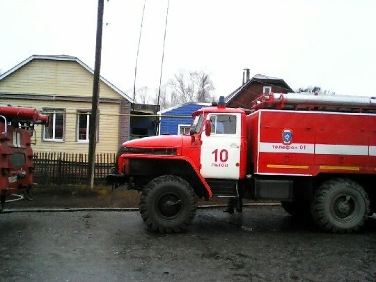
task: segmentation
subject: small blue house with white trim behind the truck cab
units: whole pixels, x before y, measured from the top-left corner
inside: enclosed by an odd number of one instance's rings
[[[159,135],[189,134],[192,113],[202,107],[208,106],[210,106],[210,103],[188,102],[159,111],[158,114],[161,116],[161,118],[159,118]],[[182,118],[179,116],[182,116]]]

